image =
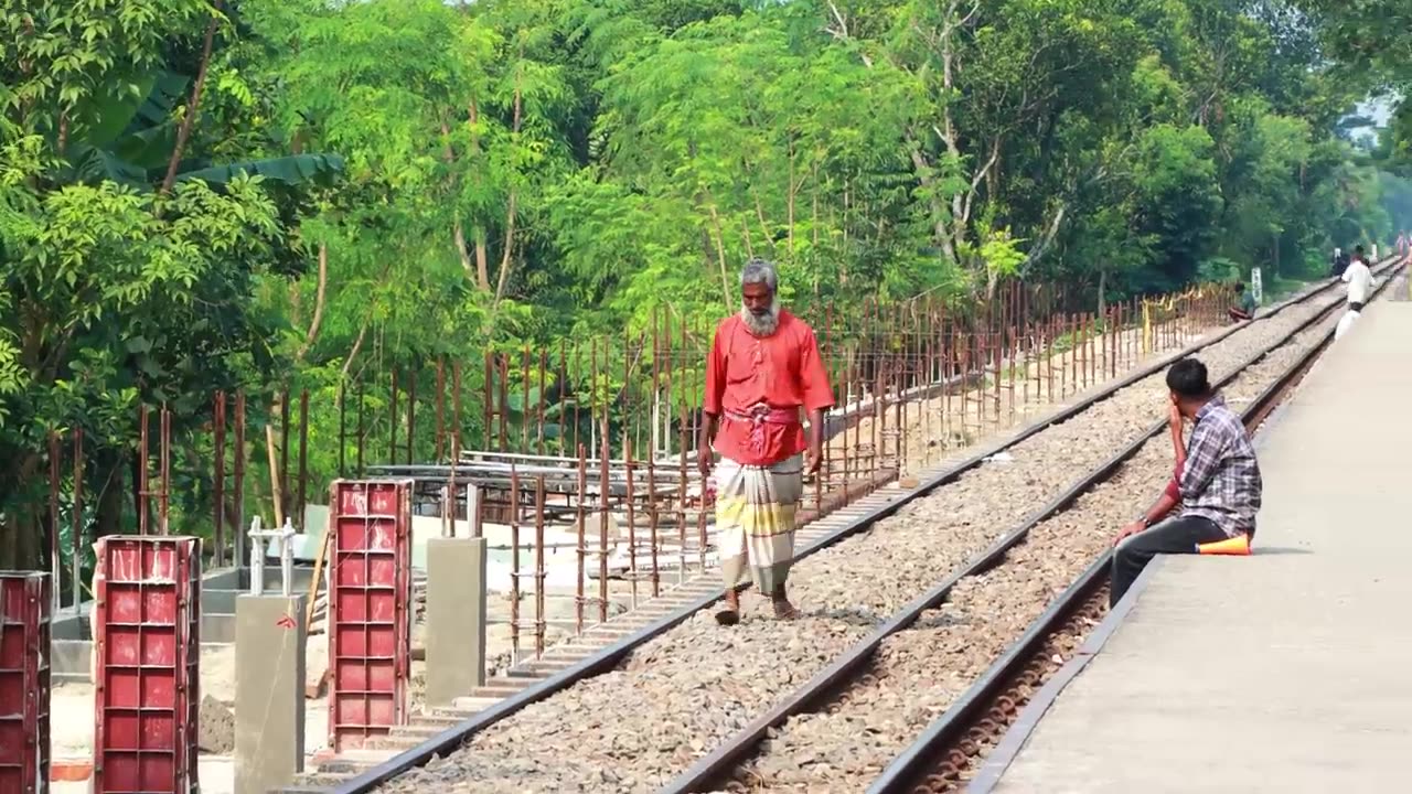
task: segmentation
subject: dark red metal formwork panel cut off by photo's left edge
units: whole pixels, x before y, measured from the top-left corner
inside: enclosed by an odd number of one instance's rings
[[[0,571],[0,794],[48,791],[51,586]]]

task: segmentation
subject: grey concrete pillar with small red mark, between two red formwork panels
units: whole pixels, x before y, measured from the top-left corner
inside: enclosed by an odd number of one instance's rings
[[[236,794],[288,786],[304,770],[306,600],[236,599]]]

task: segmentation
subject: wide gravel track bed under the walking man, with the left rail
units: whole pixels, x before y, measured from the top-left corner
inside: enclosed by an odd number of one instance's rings
[[[1214,372],[1238,370],[1250,357],[1244,352],[1278,346],[1336,305],[1333,287],[1310,290],[1183,353],[1203,352]],[[803,620],[747,616],[720,630],[705,613],[720,591],[696,593],[594,657],[332,788],[635,791],[700,769],[717,743],[753,729],[764,719],[758,715],[778,712],[779,692],[836,667],[836,657],[875,634],[877,624],[891,624],[885,616],[915,605],[939,574],[1008,537],[1029,504],[1072,487],[1076,472],[1100,462],[1096,455],[1144,434],[1155,393],[1149,379],[1159,380],[1173,357],[813,540],[796,565]],[[997,489],[1008,496],[1005,510],[987,499]]]

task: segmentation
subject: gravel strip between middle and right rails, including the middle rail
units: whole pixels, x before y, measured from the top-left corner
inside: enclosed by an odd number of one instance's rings
[[[1339,314],[1336,307],[1313,314],[1214,386],[1254,420],[1322,349]],[[998,680],[1014,678],[1017,694],[1025,691],[1048,672],[1046,658],[1063,658],[1053,647],[1067,646],[1066,637],[1101,615],[1103,602],[1093,591],[1106,578],[1103,562],[1113,533],[1145,507],[1169,476],[1171,444],[1163,429],[1163,421],[1154,422],[664,791],[860,791],[880,773],[874,791],[912,790],[891,783],[905,776],[894,771],[897,762],[890,760],[899,750],[908,757],[908,739],[926,728],[933,709],[946,709],[936,730],[953,745],[945,750],[940,769],[928,776],[929,786],[918,790],[950,790],[960,762],[976,757],[987,737],[1003,732],[1017,701],[1015,695],[997,695],[976,725],[957,730],[957,713],[973,713],[977,699],[991,694],[966,685],[1000,657]],[[1084,586],[1053,599],[1076,576]],[[1036,616],[1048,632],[1031,623]],[[1007,644],[1017,637],[1028,641],[1010,653]],[[1015,670],[1012,657],[1031,667]],[[921,757],[929,747],[912,752]]]

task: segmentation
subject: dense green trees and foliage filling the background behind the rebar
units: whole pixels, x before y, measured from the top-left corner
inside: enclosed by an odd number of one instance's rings
[[[0,1],[0,567],[41,548],[51,431],[119,531],[137,408],[172,407],[201,531],[216,390],[260,425],[309,389],[326,449],[349,379],[703,322],[751,254],[837,305],[1316,274],[1412,226],[1408,136],[1340,126],[1408,24],[1326,6]]]

